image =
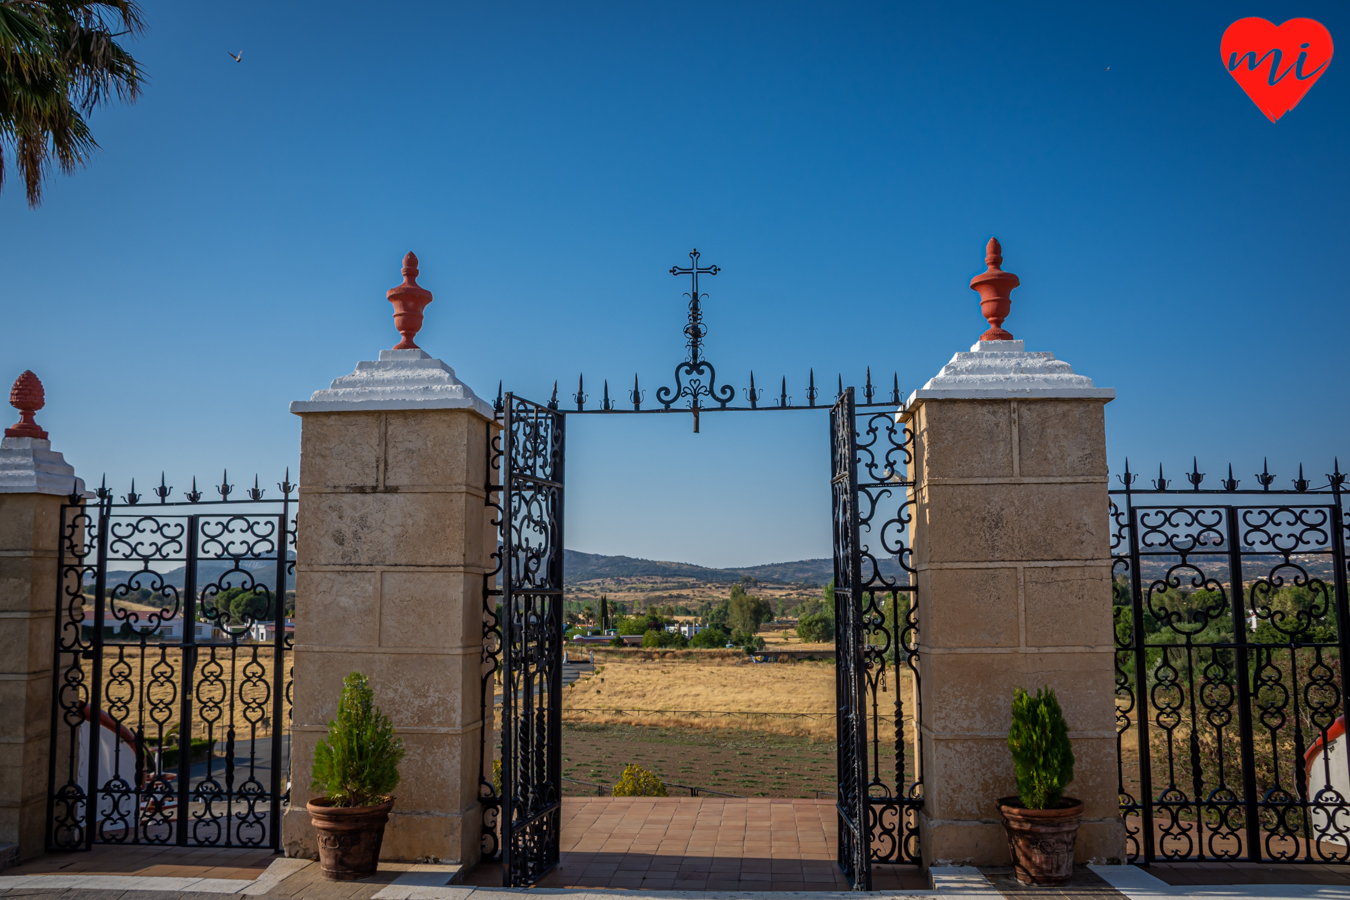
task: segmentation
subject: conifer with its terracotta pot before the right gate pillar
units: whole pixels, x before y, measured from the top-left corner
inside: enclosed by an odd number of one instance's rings
[[[1073,845],[1083,803],[1064,796],[1073,781],[1069,726],[1050,688],[1031,696],[1017,688],[1008,749],[1018,796],[999,800],[1013,869],[1022,884],[1064,884],[1073,874]]]

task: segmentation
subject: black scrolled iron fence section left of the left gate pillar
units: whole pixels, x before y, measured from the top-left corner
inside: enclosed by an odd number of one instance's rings
[[[47,847],[281,847],[294,486],[62,507]]]

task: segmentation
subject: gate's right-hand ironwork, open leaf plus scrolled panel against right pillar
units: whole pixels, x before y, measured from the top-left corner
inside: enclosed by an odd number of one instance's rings
[[[871,891],[873,862],[919,862],[918,594],[906,471],[913,433],[894,407],[859,412],[848,387],[830,410],[830,436],[838,864],[856,891]],[[902,673],[913,685],[910,715]],[[888,681],[895,696],[883,714]],[[886,719],[894,737],[883,741]],[[892,739],[894,756],[883,756]]]

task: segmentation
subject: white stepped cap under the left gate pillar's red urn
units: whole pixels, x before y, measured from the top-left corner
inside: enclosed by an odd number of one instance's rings
[[[394,409],[471,409],[494,417],[493,407],[454,368],[423,349],[382,349],[378,360],[362,360],[327,390],[290,403],[297,416]]]

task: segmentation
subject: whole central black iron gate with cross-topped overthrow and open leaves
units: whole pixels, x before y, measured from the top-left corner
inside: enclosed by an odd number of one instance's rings
[[[587,406],[585,379],[578,376],[575,409],[566,412],[559,409],[558,382],[543,406],[498,386],[494,409],[502,433],[489,437],[485,491],[501,545],[495,567],[483,576],[481,661],[485,723],[497,722],[494,694],[498,675],[502,679],[501,765],[489,766],[493,729],[485,727],[478,793],[483,858],[501,854],[508,887],[535,884],[559,860],[566,416],[690,414],[697,433],[702,413],[826,409],[817,405],[822,390],[814,370],[807,371],[805,402],[788,395],[786,376],[778,397],[765,398],[752,371],[740,391],[747,405],[736,405],[738,391],[718,382],[703,352],[707,294],[699,291],[698,277],[718,271],[699,264],[697,250],[688,266],[670,270],[691,279],[683,332],[687,356],[675,366],[674,385],[655,391],[655,406],[644,406],[647,391],[636,374],[626,403],[616,402],[602,381],[598,406]],[[892,375],[884,390],[873,385],[868,368],[861,397],[857,403],[855,390],[838,376],[830,432],[840,865],[855,888],[868,889],[873,862],[919,862],[917,816],[923,799],[918,606],[909,551],[914,483],[906,474],[913,434],[905,424],[899,376]]]

